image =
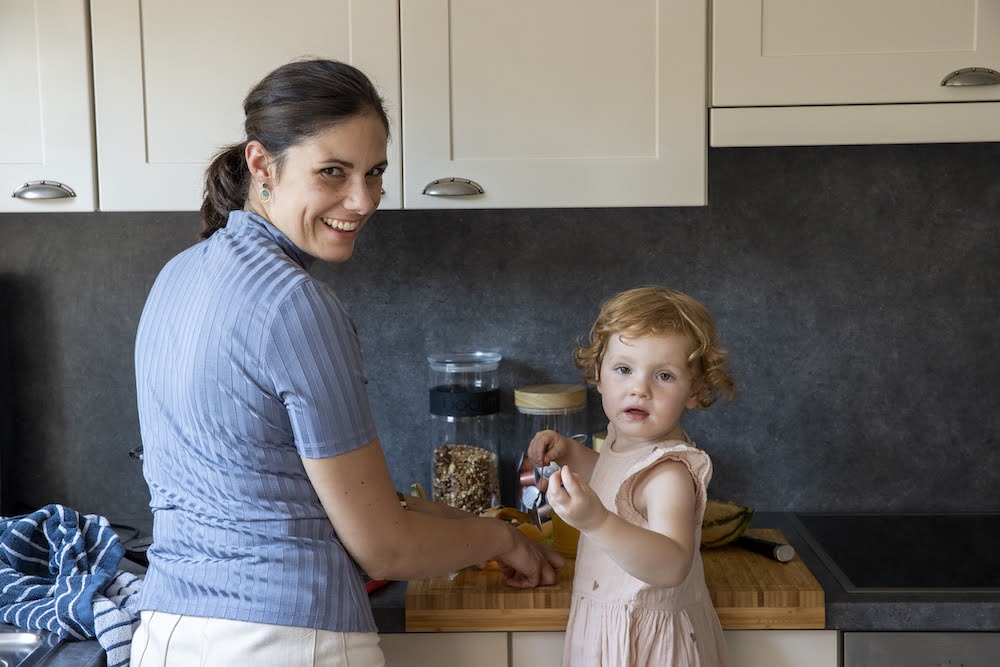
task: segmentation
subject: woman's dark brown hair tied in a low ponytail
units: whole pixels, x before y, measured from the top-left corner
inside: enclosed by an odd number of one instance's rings
[[[226,226],[250,191],[247,142],[259,141],[280,172],[286,151],[350,118],[374,114],[389,134],[389,117],[375,86],[361,70],[335,60],[297,60],[258,83],[243,101],[246,140],[222,149],[205,170],[201,238]]]

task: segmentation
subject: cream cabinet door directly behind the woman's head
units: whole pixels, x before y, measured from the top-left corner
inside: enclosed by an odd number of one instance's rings
[[[219,148],[243,139],[243,98],[290,60],[368,74],[394,140],[383,208],[401,202],[397,0],[91,2],[100,208],[197,210]]]

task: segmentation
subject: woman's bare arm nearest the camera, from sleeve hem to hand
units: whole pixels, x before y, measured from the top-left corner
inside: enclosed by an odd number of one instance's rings
[[[406,511],[377,439],[345,454],[302,461],[337,536],[373,579],[438,576],[492,559],[507,566],[508,584],[530,587],[554,583],[565,564],[504,521]]]

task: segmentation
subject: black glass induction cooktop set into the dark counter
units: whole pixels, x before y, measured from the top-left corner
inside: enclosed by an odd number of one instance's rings
[[[796,513],[849,593],[1000,592],[1000,513]]]

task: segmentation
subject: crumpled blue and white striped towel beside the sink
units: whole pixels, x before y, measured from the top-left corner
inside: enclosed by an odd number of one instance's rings
[[[97,638],[108,667],[128,665],[142,580],[108,520],[62,505],[0,518],[0,621],[63,639]]]

